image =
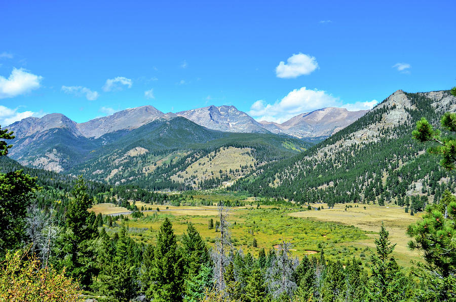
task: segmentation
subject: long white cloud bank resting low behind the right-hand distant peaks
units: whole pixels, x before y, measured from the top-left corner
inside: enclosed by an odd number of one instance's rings
[[[343,107],[350,111],[371,109],[377,104],[376,100],[356,103],[344,103],[323,90],[310,90],[306,87],[294,89],[281,100],[273,104],[258,100],[252,104],[247,113],[257,121],[283,123],[304,112],[325,107]]]

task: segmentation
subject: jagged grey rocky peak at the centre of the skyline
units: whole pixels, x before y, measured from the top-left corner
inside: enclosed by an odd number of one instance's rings
[[[269,132],[235,106],[208,106],[177,112],[176,115],[213,130],[241,133]]]

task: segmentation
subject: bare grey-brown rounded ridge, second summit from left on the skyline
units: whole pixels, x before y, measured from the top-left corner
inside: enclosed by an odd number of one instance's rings
[[[77,127],[86,137],[99,138],[106,133],[119,130],[133,130],[166,115],[153,106],[125,109],[113,115],[78,124]]]

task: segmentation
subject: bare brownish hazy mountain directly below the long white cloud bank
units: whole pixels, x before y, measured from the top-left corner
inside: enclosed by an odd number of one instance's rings
[[[366,114],[368,110],[349,111],[346,108],[327,107],[302,113],[278,124],[261,121],[273,133],[284,133],[299,138],[330,136]]]

